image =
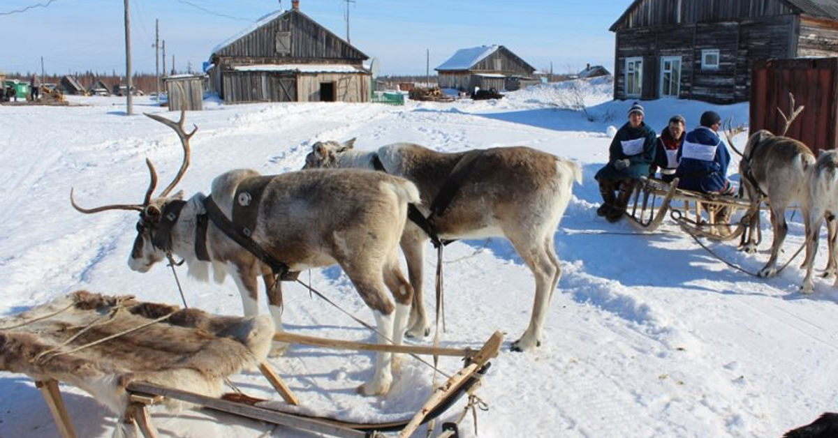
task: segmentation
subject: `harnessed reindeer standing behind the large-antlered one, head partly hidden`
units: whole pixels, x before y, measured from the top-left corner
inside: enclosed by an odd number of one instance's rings
[[[442,153],[411,143],[395,143],[374,152],[354,151],[349,142],[317,142],[303,168],[364,167],[380,163],[386,173],[416,183],[422,195],[418,206],[427,218],[432,202],[469,152]],[[530,351],[541,344],[541,329],[561,265],[553,247],[562,214],[570,202],[573,181],[582,183],[582,170],[529,147],[496,147],[479,152],[473,167],[444,214],[432,217],[433,230],[443,240],[505,236],[535,277],[535,303],[530,324],[513,351]],[[427,336],[430,324],[422,299],[422,267],[428,234],[409,223],[401,238],[413,286],[409,337]]]

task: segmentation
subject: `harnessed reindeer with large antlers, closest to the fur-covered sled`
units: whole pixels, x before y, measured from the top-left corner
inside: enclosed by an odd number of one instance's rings
[[[184,131],[184,112],[177,123],[161,116],[147,116],[177,132],[184,148],[184,161],[177,176],[158,197],[152,197],[157,173],[148,159],[151,183],[142,204],[84,209],[75,203],[70,190],[70,202],[81,213],[111,209],[140,213],[137,238],[128,259],[132,270],[146,272],[167,256],[178,255],[189,266],[191,276],[209,281],[211,265],[215,281],[224,281],[226,274],[233,277],[247,316],[258,313],[257,277],[262,276],[275,327],[281,330],[282,291],[273,276],[278,272],[236,243],[213,221],[206,225],[205,232],[205,256],[209,261],[199,260],[196,249],[196,243],[202,240],[196,231],[200,215],[215,205],[226,218],[234,217],[235,203],[243,205],[253,200],[250,192],[237,194],[237,188],[262,178],[261,203],[256,207],[255,226],[248,233],[251,240],[291,271],[340,265],[375,314],[379,342],[392,339],[395,344],[401,343],[413,289],[401,273],[398,244],[407,204],[419,202],[413,183],[364,170],[320,170],[263,177],[256,171],[241,169],[215,178],[209,197],[197,193],[184,202],[182,191],[171,196],[169,193],[189,166],[189,139],[197,126],[189,133]],[[209,204],[210,198],[213,204]],[[177,204],[181,204],[179,215],[173,214],[173,205]],[[387,289],[396,299],[395,314],[394,305],[385,293]],[[375,374],[360,386],[361,394],[388,391],[392,382],[391,359],[391,353],[378,353]]]

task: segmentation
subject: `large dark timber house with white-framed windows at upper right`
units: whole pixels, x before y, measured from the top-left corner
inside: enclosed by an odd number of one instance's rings
[[[835,0],[634,0],[616,33],[614,98],[748,100],[758,59],[838,50]]]

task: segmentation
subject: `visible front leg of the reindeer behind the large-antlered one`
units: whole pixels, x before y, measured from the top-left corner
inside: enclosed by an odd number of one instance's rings
[[[431,332],[431,323],[425,310],[423,269],[425,263],[425,244],[427,237],[412,223],[405,225],[401,235],[401,250],[407,262],[407,276],[413,287],[413,299],[410,319],[407,321],[407,338],[424,338]]]

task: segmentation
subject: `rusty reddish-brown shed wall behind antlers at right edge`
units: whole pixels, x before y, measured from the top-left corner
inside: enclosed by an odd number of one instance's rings
[[[838,146],[838,58],[771,59],[753,65],[750,131],[780,134],[788,116],[789,92],[805,106],[787,137],[804,142],[812,152]]]

